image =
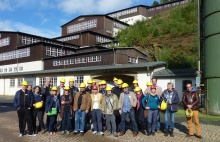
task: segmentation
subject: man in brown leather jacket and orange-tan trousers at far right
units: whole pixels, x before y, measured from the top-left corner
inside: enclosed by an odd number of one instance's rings
[[[192,119],[194,120],[195,123],[195,128],[196,128],[196,135],[199,139],[203,139],[201,136],[201,128],[200,128],[200,123],[199,123],[199,112],[198,112],[198,105],[199,105],[199,95],[196,91],[193,91],[192,88],[192,83],[187,83],[186,84],[187,91],[183,93],[183,106],[186,109],[192,110],[193,111],[193,116],[192,117],[186,117],[187,124],[188,124],[188,129],[189,133],[186,135],[186,137],[191,137],[194,136],[194,131],[193,131],[193,124],[192,124]]]

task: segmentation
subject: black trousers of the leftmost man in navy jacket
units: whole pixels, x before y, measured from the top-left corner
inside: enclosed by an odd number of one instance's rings
[[[18,113],[18,122],[19,122],[19,131],[20,134],[24,134],[24,119],[27,122],[28,125],[28,134],[32,135],[33,134],[33,127],[31,123],[31,110],[28,108],[19,108],[17,110]]]

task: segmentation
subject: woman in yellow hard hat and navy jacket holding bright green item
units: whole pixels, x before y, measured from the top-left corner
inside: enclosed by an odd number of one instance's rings
[[[49,118],[49,127],[48,127],[48,132],[49,135],[55,134],[57,128],[57,115],[60,111],[60,96],[57,94],[58,89],[56,86],[52,87],[51,89],[51,95],[47,96],[46,99],[46,113],[47,117]],[[54,115],[49,115],[48,113],[52,111],[52,108],[56,108],[57,114]]]

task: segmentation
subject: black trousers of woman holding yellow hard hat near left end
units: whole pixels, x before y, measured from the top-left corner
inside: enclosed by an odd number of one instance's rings
[[[41,129],[44,130],[44,121],[43,121],[43,110],[39,110],[39,109],[34,109],[33,110],[33,120],[32,120],[32,124],[33,124],[33,130],[35,131],[40,131]],[[37,128],[37,123],[36,120],[38,119],[39,121],[39,126]]]

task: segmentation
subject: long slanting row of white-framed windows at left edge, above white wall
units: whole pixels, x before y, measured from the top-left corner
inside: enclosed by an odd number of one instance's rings
[[[30,47],[14,50],[10,52],[0,53],[0,61],[29,57],[30,56]]]

